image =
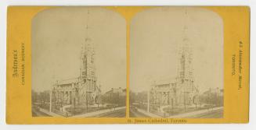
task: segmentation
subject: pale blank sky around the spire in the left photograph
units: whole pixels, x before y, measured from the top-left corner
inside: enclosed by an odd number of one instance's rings
[[[102,91],[126,88],[125,24],[117,12],[97,7],[39,12],[32,20],[32,90],[49,90],[56,80],[78,77],[86,37],[95,47],[96,76]]]

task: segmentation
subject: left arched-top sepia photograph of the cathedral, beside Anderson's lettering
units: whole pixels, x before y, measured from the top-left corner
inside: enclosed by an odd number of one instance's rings
[[[59,7],[31,21],[33,117],[125,118],[126,23],[100,7]]]

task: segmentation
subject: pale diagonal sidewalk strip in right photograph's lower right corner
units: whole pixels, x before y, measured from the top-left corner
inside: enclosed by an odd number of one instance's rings
[[[223,107],[209,108],[209,109],[204,109],[204,110],[200,110],[200,111],[193,111],[193,112],[189,112],[189,113],[185,113],[185,114],[176,114],[176,115],[170,116],[168,118],[187,118],[187,117],[194,116],[194,115],[197,115],[197,114],[204,114],[204,113],[219,110],[219,109],[223,109]]]

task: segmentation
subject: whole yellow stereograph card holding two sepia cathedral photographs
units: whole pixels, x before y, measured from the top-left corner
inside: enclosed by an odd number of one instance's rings
[[[245,6],[9,6],[8,124],[249,121]]]

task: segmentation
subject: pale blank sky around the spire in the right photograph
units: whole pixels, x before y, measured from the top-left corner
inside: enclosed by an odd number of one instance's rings
[[[132,19],[131,90],[149,90],[154,81],[175,82],[184,37],[189,39],[193,76],[200,93],[223,88],[222,18],[207,9],[160,7],[139,12]]]

